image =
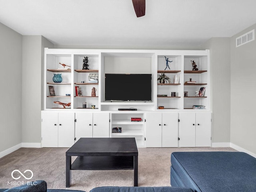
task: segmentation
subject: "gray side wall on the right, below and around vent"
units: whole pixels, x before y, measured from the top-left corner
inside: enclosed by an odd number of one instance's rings
[[[256,154],[256,40],[236,48],[236,38],[256,30],[256,24],[231,38],[231,143]]]

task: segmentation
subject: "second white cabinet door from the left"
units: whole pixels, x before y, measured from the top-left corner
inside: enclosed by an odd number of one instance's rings
[[[58,147],[71,147],[75,137],[75,114],[58,113]]]

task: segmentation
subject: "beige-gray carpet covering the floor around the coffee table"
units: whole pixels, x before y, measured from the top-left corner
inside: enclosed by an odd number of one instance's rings
[[[31,170],[34,180],[45,180],[49,189],[66,188],[65,152],[68,148],[20,148],[0,158],[0,188],[12,188],[13,170]],[[170,154],[176,151],[236,151],[232,148],[138,148],[138,185],[170,186]],[[74,160],[74,159],[72,159]],[[28,174],[28,175],[26,175]],[[24,173],[29,177],[29,172]],[[18,177],[18,172],[14,177]],[[9,184],[8,184],[9,182]],[[72,186],[67,189],[89,192],[99,186],[133,186],[133,170],[72,170]]]

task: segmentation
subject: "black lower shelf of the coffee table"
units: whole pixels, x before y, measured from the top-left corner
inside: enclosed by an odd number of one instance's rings
[[[133,156],[78,156],[71,170],[122,170],[134,169]]]

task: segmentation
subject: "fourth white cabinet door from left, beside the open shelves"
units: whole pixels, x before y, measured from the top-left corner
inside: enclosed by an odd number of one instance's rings
[[[109,137],[109,113],[93,113],[92,137]]]

